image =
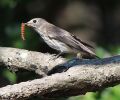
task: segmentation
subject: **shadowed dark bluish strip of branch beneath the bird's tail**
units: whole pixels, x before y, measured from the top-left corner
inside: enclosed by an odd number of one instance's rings
[[[51,69],[48,72],[48,75],[54,74],[54,73],[61,73],[64,71],[67,71],[69,68],[77,66],[77,65],[106,65],[111,63],[119,63],[120,62],[120,56],[113,56],[109,58],[97,58],[97,59],[79,59],[79,58],[73,58],[71,60],[68,60],[67,62],[55,66],[53,69]]]

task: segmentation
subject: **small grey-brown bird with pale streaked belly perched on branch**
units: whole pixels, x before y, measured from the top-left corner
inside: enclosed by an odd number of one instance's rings
[[[88,47],[91,45],[83,42],[81,39],[72,33],[55,26],[43,18],[33,18],[25,25],[33,28],[47,43],[47,45],[57,51],[58,56],[64,53],[77,54],[80,58],[87,56],[88,59],[95,59],[98,56]]]

